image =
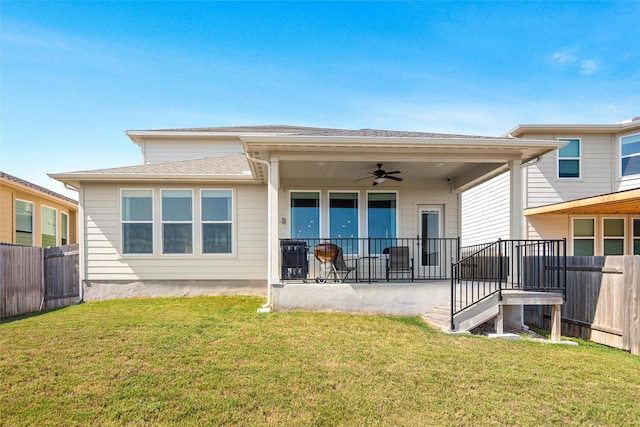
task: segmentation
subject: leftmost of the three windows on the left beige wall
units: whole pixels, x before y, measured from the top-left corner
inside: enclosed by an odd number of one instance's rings
[[[122,253],[153,253],[151,190],[122,190]]]

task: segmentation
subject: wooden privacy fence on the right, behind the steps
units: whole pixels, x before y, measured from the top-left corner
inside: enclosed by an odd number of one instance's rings
[[[562,334],[640,355],[640,256],[567,257]],[[525,322],[549,329],[549,307]]]

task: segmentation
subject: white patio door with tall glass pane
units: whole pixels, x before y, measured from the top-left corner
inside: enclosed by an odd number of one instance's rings
[[[442,272],[443,244],[442,206],[418,205],[418,235],[420,253],[418,256],[418,276],[437,278]]]

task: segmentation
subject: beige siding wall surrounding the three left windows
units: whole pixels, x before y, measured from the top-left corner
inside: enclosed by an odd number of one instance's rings
[[[85,184],[85,259],[88,280],[264,280],[267,271],[266,187],[239,185],[235,196],[234,255],[129,256],[119,253],[120,188],[113,184]],[[123,188],[134,188],[133,185]],[[167,188],[167,186],[140,187]],[[211,186],[181,185],[193,188]],[[223,186],[220,188],[230,188]],[[157,201],[156,201],[157,202]],[[155,213],[158,223],[158,213]],[[200,223],[194,221],[194,232]],[[155,224],[154,224],[155,226]],[[197,237],[196,237],[197,238]]]

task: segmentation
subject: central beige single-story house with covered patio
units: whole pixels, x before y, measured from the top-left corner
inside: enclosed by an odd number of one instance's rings
[[[291,274],[281,264],[280,239],[310,244],[310,264],[293,274],[298,279],[320,274],[313,243],[329,238],[359,263],[351,280],[389,280],[394,245],[409,248],[414,263],[392,279],[449,278],[457,254],[424,242],[449,239],[458,247],[460,194],[503,172],[518,183],[523,163],[564,145],[546,135],[293,126],[126,134],[140,147],[142,165],[50,175],[79,189],[87,300],[271,297],[271,286]],[[380,170],[397,173],[377,176]],[[519,192],[511,198],[510,220],[522,222]]]

